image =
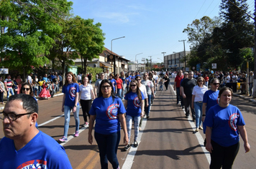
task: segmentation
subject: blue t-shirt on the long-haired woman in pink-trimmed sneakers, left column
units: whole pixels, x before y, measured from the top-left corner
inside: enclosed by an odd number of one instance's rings
[[[63,86],[63,93],[65,94],[65,106],[74,107],[77,92],[80,92],[79,84],[77,83],[71,83]],[[79,103],[77,105],[79,105]]]

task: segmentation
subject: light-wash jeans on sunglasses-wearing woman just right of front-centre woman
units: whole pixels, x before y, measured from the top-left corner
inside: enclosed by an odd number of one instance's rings
[[[137,141],[137,137],[139,134],[139,124],[140,124],[140,116],[126,116],[127,120],[127,132],[128,132],[128,137],[131,137],[131,131],[132,131],[132,120],[134,120],[134,141]],[[129,139],[130,143],[130,139]]]

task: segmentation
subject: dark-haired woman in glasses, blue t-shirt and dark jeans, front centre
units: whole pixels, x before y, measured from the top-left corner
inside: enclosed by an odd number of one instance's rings
[[[93,101],[91,106],[88,130],[88,143],[92,144],[91,132],[94,120],[96,120],[94,137],[99,147],[101,168],[108,168],[108,160],[113,168],[119,168],[116,153],[120,141],[120,123],[124,130],[125,145],[129,141],[125,112],[124,104],[119,97],[114,95],[113,86],[109,79],[102,80],[99,87],[99,97]]]

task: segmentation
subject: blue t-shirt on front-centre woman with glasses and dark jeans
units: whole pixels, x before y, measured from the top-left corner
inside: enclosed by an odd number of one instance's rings
[[[126,112],[119,97],[97,97],[91,105],[90,115],[96,115],[95,132],[109,135],[120,130],[119,114]]]

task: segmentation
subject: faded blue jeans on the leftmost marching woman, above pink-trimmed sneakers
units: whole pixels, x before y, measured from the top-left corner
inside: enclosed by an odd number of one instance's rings
[[[68,128],[69,128],[69,122],[70,122],[70,110],[72,110],[73,107],[70,106],[66,106],[64,105],[64,115],[65,115],[65,122],[64,122],[64,136],[68,137]],[[74,118],[76,120],[76,131],[79,130],[79,110],[80,110],[80,106],[78,105],[76,107],[76,112],[74,113]]]

